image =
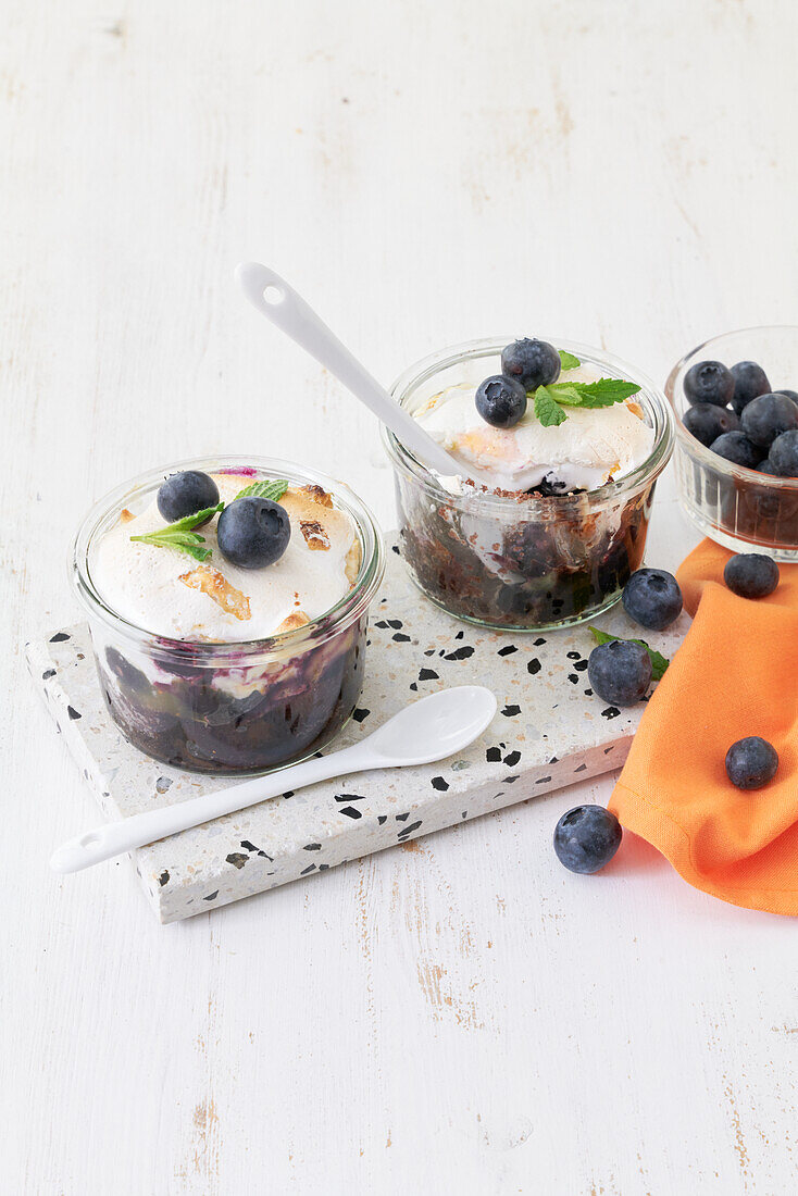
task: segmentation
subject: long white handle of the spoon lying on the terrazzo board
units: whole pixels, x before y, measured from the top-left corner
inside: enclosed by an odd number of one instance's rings
[[[154,843],[167,835],[199,826],[200,823],[221,818],[254,806],[267,798],[276,798],[288,789],[300,789],[317,781],[328,781],[345,773],[360,773],[373,768],[374,762],[367,751],[361,750],[365,740],[333,752],[330,756],[313,757],[301,764],[273,773],[269,776],[256,776],[240,785],[231,785],[215,793],[203,793],[200,798],[177,801],[171,806],[147,810],[133,814],[121,822],[105,823],[93,830],[62,843],[53,854],[50,867],[54,872],[80,872],[92,864],[110,860],[122,852],[132,852],[136,847]]]

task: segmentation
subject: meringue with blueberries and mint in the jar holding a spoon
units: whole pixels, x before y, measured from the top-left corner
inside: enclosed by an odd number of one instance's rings
[[[639,386],[601,378],[544,341],[516,341],[501,361],[504,390],[501,376],[476,390],[459,383],[414,413],[461,462],[459,482],[511,496],[590,490],[651,454],[653,429],[633,401]]]

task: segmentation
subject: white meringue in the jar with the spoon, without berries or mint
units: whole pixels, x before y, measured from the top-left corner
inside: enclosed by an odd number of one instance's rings
[[[564,370],[558,382],[590,383],[598,377],[579,366]],[[544,481],[564,493],[595,489],[632,472],[653,448],[653,429],[641,419],[634,398],[604,408],[568,407],[568,417],[552,427],[541,423],[530,401],[514,427],[495,428],[482,420],[474,396],[474,385],[449,386],[414,411],[433,440],[462,463],[461,482],[475,469],[497,490],[512,494]]]

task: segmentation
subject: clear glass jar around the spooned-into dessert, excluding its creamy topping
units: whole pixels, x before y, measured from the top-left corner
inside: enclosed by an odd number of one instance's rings
[[[492,337],[441,349],[410,366],[392,395],[414,411],[446,386],[476,386],[500,372],[501,349],[511,341]],[[641,388],[635,399],[654,431],[654,445],[626,477],[554,498],[452,495],[383,431],[410,575],[451,615],[485,627],[538,631],[580,623],[611,606],[642,562],[654,482],[672,450],[670,409],[648,378],[599,349],[550,341]]]

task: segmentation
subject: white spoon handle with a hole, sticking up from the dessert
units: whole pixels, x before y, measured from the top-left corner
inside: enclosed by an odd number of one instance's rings
[[[444,476],[461,471],[445,448],[391,398],[285,279],[260,262],[242,262],[236,267],[236,279],[262,316],[335,374],[428,469]]]

